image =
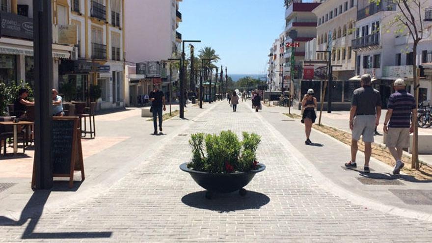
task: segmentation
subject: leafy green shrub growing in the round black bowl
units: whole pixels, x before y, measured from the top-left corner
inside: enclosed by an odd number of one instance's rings
[[[243,141],[232,131],[190,136],[192,162],[188,168],[208,173],[246,172],[258,168],[256,151],[261,137],[243,132]]]

